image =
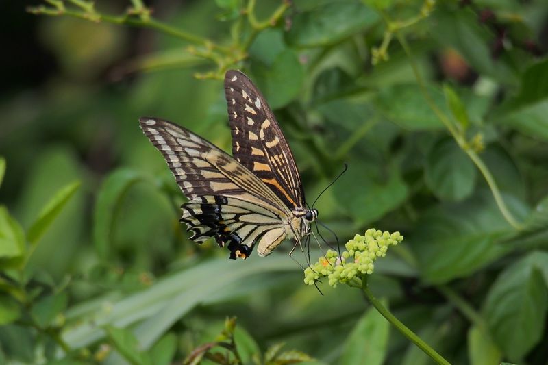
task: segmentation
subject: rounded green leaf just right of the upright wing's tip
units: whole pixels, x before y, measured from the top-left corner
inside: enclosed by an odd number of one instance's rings
[[[271,66],[255,64],[256,83],[272,109],[282,108],[301,93],[304,71],[293,51],[279,53]]]

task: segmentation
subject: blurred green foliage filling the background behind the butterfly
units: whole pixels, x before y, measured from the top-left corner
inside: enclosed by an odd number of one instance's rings
[[[395,316],[452,364],[545,364],[545,1],[36,2],[52,16],[14,15],[36,50],[12,51],[53,62],[0,104],[0,363],[212,364],[192,351],[226,341],[243,363],[429,363],[359,292],[305,286],[291,244],[233,262],[188,240],[137,120],[228,151],[240,68],[309,203],[349,164],[316,205],[341,242],[406,236],[369,280]]]

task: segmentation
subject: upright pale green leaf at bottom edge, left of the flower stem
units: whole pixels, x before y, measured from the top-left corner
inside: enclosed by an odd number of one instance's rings
[[[386,305],[386,301],[383,301]],[[354,326],[339,364],[382,365],[388,349],[390,323],[374,307],[369,307]]]

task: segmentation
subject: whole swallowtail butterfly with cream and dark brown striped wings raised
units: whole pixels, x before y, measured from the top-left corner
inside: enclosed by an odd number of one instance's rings
[[[161,118],[140,127],[164,155],[189,199],[179,221],[190,239],[214,237],[230,258],[245,259],[257,245],[269,255],[286,238],[310,234],[318,210],[308,209],[301,177],[282,129],[261,92],[242,72],[225,74],[232,156],[204,138]]]

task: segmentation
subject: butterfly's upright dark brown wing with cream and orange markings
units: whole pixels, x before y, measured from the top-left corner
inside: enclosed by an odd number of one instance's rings
[[[225,75],[232,156],[288,207],[304,207],[301,177],[282,130],[261,92],[240,71]]]

